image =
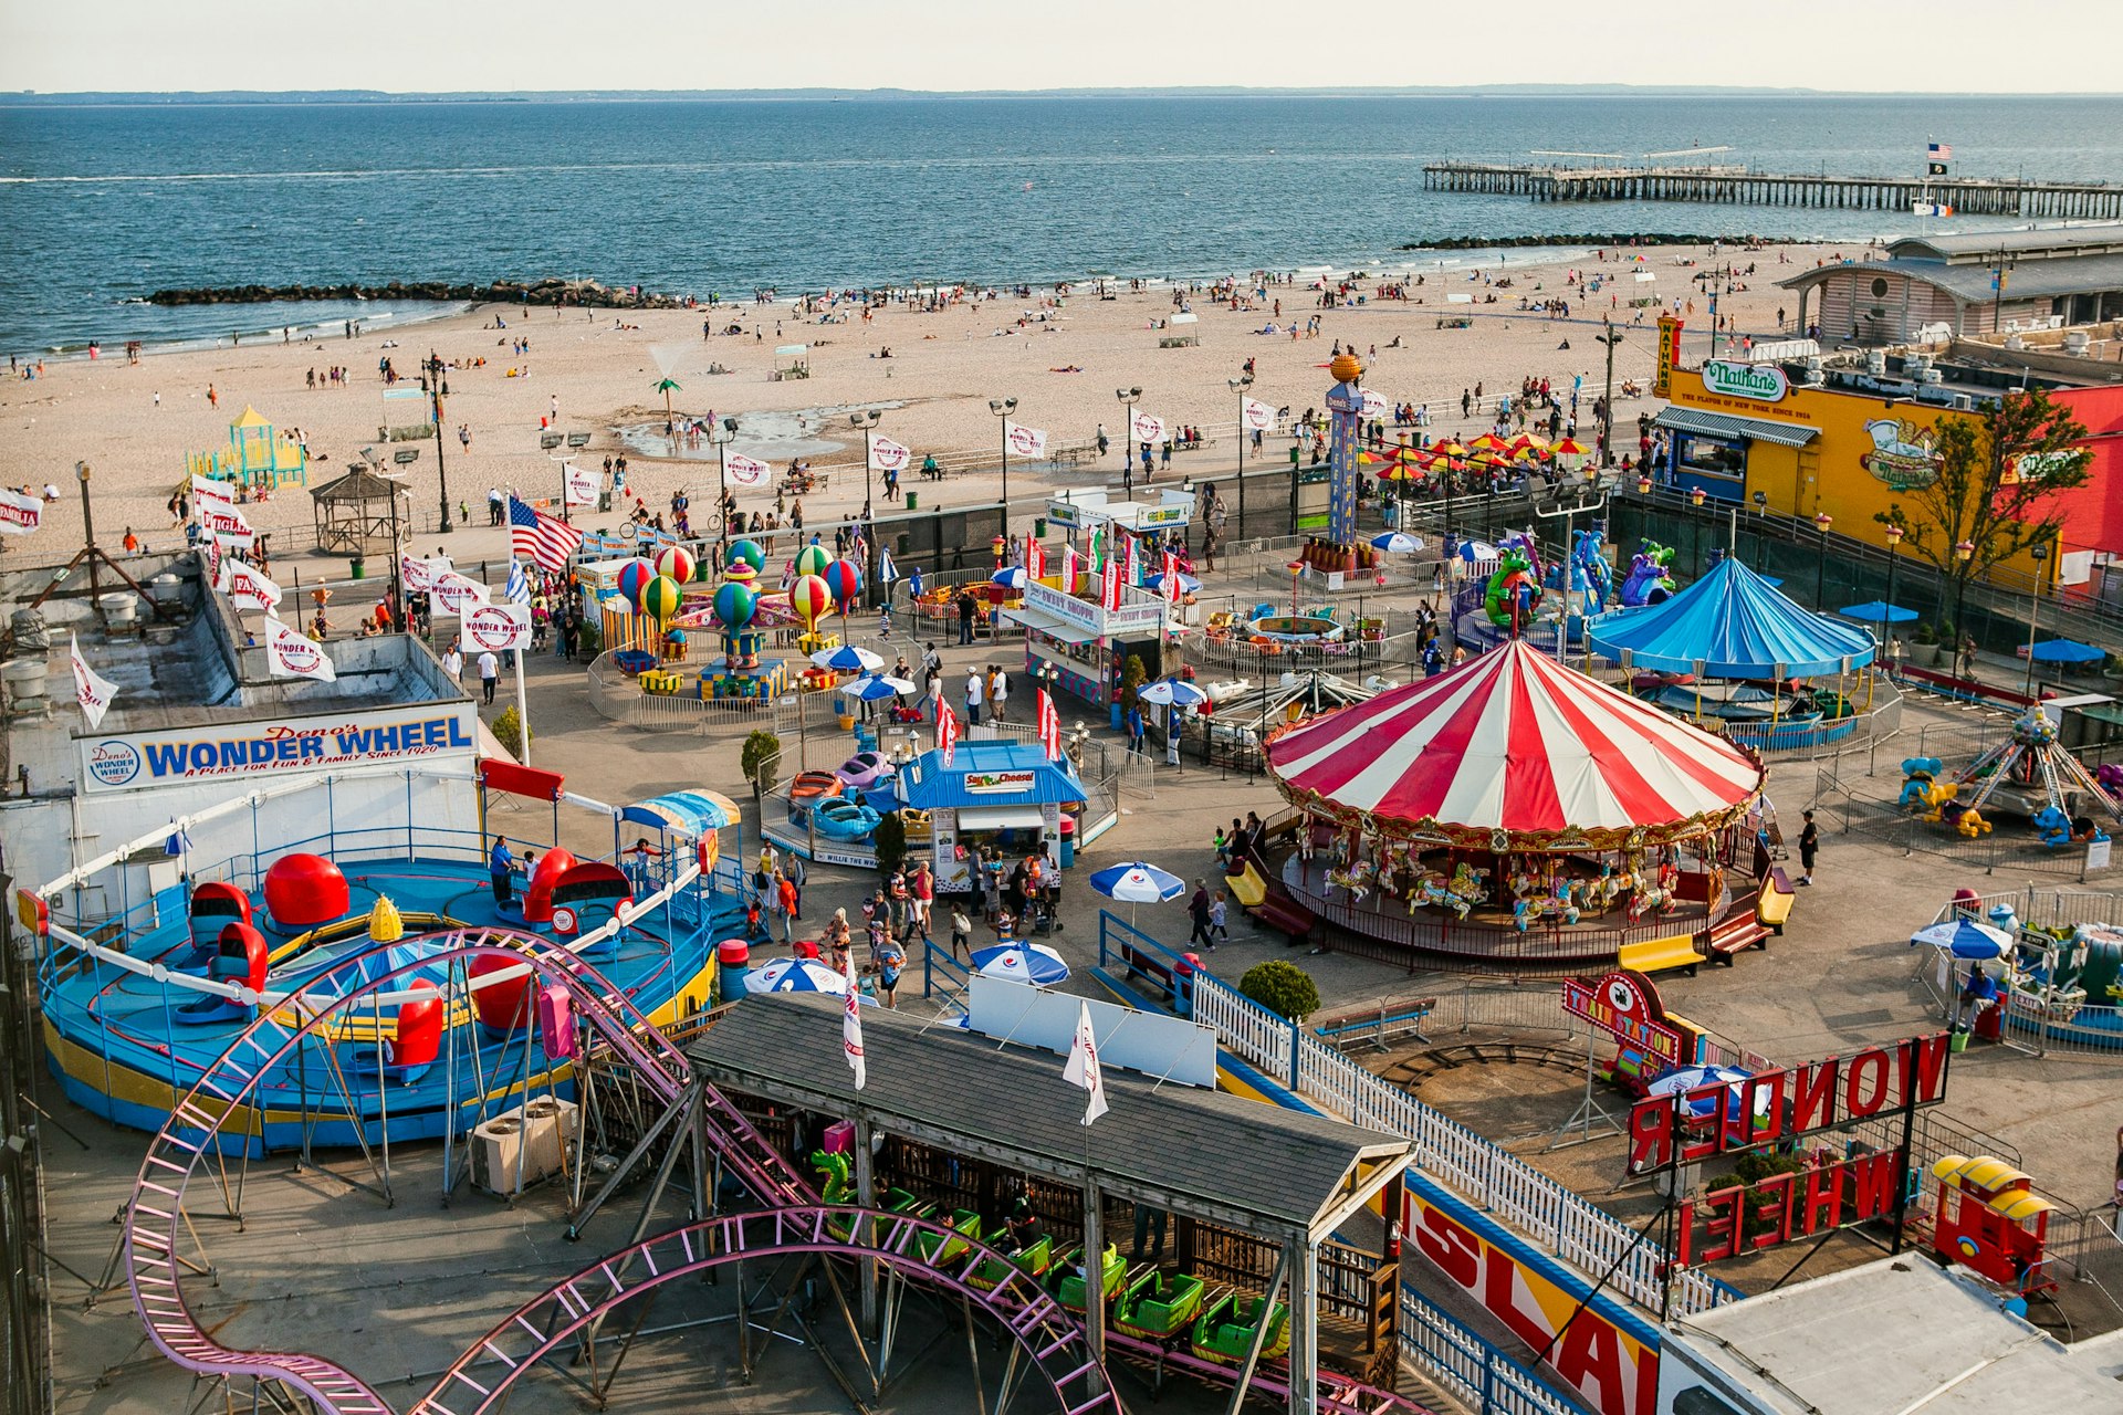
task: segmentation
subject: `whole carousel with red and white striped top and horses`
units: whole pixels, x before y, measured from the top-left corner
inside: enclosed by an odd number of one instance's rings
[[[1299,810],[1278,893],[1388,957],[1692,967],[1768,936],[1760,759],[1524,641],[1282,726],[1267,768]]]

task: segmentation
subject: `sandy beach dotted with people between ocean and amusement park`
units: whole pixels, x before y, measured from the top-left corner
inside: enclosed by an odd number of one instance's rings
[[[932,314],[890,303],[868,320],[860,316],[856,301],[841,301],[826,314],[798,316],[794,297],[788,295],[771,305],[724,303],[713,312],[616,314],[488,305],[442,320],[365,329],[352,339],[244,339],[240,346],[210,350],[151,350],[138,365],[127,365],[119,352],[106,352],[93,363],[53,361],[45,365],[42,378],[15,378],[0,388],[0,426],[6,429],[0,477],[8,486],[42,488],[51,482],[62,490],[59,501],[47,507],[45,530],[34,539],[13,541],[6,549],[11,562],[30,564],[64,560],[81,543],[81,505],[72,486],[76,460],[96,471],[96,522],[104,545],[115,549],[130,528],[149,547],[168,547],[180,537],[166,501],[185,475],[185,454],[225,446],[227,424],[246,405],[282,429],[301,431],[312,456],[310,486],[321,486],[338,477],[363,446],[378,446],[378,424],[412,420],[408,403],[389,405],[386,414],[380,361],[391,359],[408,375],[431,350],[456,365],[448,373],[444,454],[452,516],[456,503],[469,505],[476,522],[471,528],[435,537],[435,448],[422,448],[405,479],[414,535],[422,547],[435,541],[459,558],[505,554],[505,535],[486,528],[488,488],[518,488],[527,496],[554,494],[554,462],[539,450],[541,418],[550,418],[554,409],[560,431],[590,433],[590,460],[628,454],[631,490],[652,509],[662,509],[673,490],[690,488],[703,499],[696,503],[698,524],[698,511],[709,505],[715,486],[713,450],[701,446],[692,458],[667,460],[628,448],[620,435],[635,426],[660,437],[662,395],[656,384],[662,378],[679,384],[673,395],[675,412],[741,416],[747,418],[747,431],[760,426],[764,437],[739,437],[732,450],[762,456],[777,471],[790,456],[805,454],[813,467],[847,465],[856,473],[862,437],[847,426],[847,412],[856,407],[881,409],[879,435],[909,446],[919,460],[930,452],[943,456],[994,448],[1000,429],[987,407],[991,397],[1015,397],[1015,420],[1049,431],[1057,443],[1083,443],[1100,424],[1117,433],[1123,409],[1115,401],[1115,388],[1140,386],[1138,412],[1161,416],[1168,424],[1197,424],[1214,437],[1208,450],[1185,458],[1189,475],[1214,475],[1236,462],[1231,431],[1238,407],[1225,380],[1238,375],[1246,359],[1255,359],[1253,397],[1301,414],[1323,401],[1331,382],[1325,365],[1335,342],[1346,342],[1365,356],[1367,388],[1395,403],[1431,403],[1433,431],[1486,426],[1480,414],[1473,420],[1459,416],[1461,392],[1480,384],[1492,399],[1497,392],[1516,392],[1526,375],[1550,378],[1560,388],[1571,378],[1584,378],[1582,431],[1590,431],[1590,399],[1605,380],[1605,354],[1594,337],[1599,320],[1613,316],[1624,333],[1624,344],[1616,348],[1616,386],[1624,380],[1647,384],[1652,373],[1656,310],[1633,310],[1630,299],[1647,293],[1669,303],[1679,299],[1688,320],[1686,352],[1694,359],[1703,356],[1711,337],[1709,286],[1694,280],[1698,272],[1728,261],[1739,272],[1754,265],[1751,276],[1734,278],[1741,289],[1722,295],[1720,314],[1732,316],[1741,333],[1775,337],[1779,308],[1790,310],[1794,303],[1775,280],[1819,259],[1860,252],[1856,242],[1726,246],[1715,252],[1707,246],[1652,246],[1567,261],[1552,250],[1526,250],[1514,252],[1503,265],[1442,252],[1425,261],[1412,259],[1405,276],[1367,272],[1354,280],[1354,289],[1367,295],[1363,305],[1321,310],[1321,291],[1312,284],[1321,274],[1304,272],[1270,284],[1267,299],[1246,301],[1250,308],[1233,310],[1204,295],[1189,297],[1197,322],[1174,329],[1157,327],[1174,314],[1170,286],[1140,293],[1123,286],[1110,299],[1100,299],[1091,286],[1076,286],[1059,301],[1051,289],[1034,286],[1030,295],[968,291],[962,301]],[[1633,261],[1637,255],[1643,257],[1641,263]],[[1779,263],[1779,257],[1790,263]],[[1586,295],[1571,280],[1573,272],[1605,278],[1605,286]],[[1637,280],[1635,272],[1650,272],[1654,278]],[[1414,284],[1418,274],[1422,284]],[[1376,297],[1388,280],[1408,282],[1405,301]],[[1501,284],[1505,280],[1509,284]],[[1448,295],[1469,299],[1448,301]],[[1490,297],[1495,303],[1488,303]],[[1571,305],[1569,318],[1524,312],[1518,308],[1522,299],[1565,299]],[[1694,301],[1692,312],[1688,301]],[[231,310],[234,314],[257,322],[259,310]],[[495,327],[497,314],[505,329]],[[1316,335],[1304,333],[1312,316],[1318,316]],[[1471,316],[1473,325],[1439,329],[1439,320],[1454,316]],[[705,320],[715,329],[711,337],[703,337]],[[1289,335],[1293,322],[1301,327],[1297,339]],[[730,325],[743,333],[722,333]],[[1259,333],[1267,325],[1276,333]],[[1159,339],[1180,333],[1197,335],[1199,346],[1159,348]],[[518,339],[529,339],[529,352],[514,352]],[[1565,342],[1569,348],[1563,348]],[[777,367],[775,348],[790,344],[809,346],[811,375],[777,382],[771,378]],[[471,367],[478,359],[486,361],[484,367]],[[346,382],[338,386],[327,378],[333,365],[346,369]],[[709,373],[713,365],[726,371]],[[312,369],[316,388],[308,386]],[[219,405],[208,399],[208,388]],[[1624,401],[1618,405],[1618,422],[1628,424],[1650,407],[1650,401]],[[783,416],[760,418],[762,414]],[[471,435],[469,450],[459,441],[459,426]],[[1618,435],[1618,450],[1628,443],[1628,437]],[[1270,441],[1267,456],[1280,458],[1284,450],[1287,443]],[[1108,479],[1119,479],[1119,446],[1102,462],[1087,460],[1076,469],[1047,473],[1019,462],[1013,467],[1011,496],[1030,501],[1053,484],[1104,486]],[[924,492],[924,507],[949,507],[994,501],[1000,477],[994,469],[951,475],[940,486],[909,477],[907,488]],[[828,492],[805,499],[807,524],[830,526],[858,511],[862,499],[860,475],[832,477]],[[747,511],[771,509],[773,494],[741,492],[741,505]],[[314,562],[316,573],[340,573],[340,566],[310,549],[308,494],[287,488],[246,513],[259,530],[278,532],[272,541],[276,562],[293,560],[301,569],[312,569]],[[618,518],[586,520],[599,526]]]

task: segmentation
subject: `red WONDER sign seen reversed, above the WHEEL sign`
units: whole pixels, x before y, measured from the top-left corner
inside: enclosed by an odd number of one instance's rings
[[[1909,1114],[1938,1105],[1945,1095],[1943,1031],[1741,1082],[1654,1095],[1628,1112],[1628,1171],[1694,1165],[1879,1114]]]

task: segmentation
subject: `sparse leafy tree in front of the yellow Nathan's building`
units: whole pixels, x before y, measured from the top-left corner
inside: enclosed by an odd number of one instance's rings
[[[1938,475],[1909,488],[1872,520],[1902,526],[1911,554],[1938,566],[1947,594],[2032,545],[2053,545],[2064,528],[2055,494],[2085,486],[2087,429],[2042,388],[2004,395],[1981,418],[1940,418]],[[1966,562],[1962,541],[1974,547]]]

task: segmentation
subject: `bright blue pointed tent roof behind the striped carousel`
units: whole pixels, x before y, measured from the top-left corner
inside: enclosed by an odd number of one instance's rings
[[[1586,636],[1633,668],[1713,679],[1841,672],[1879,647],[1870,630],[1807,611],[1732,556],[1662,605],[1596,615]]]

